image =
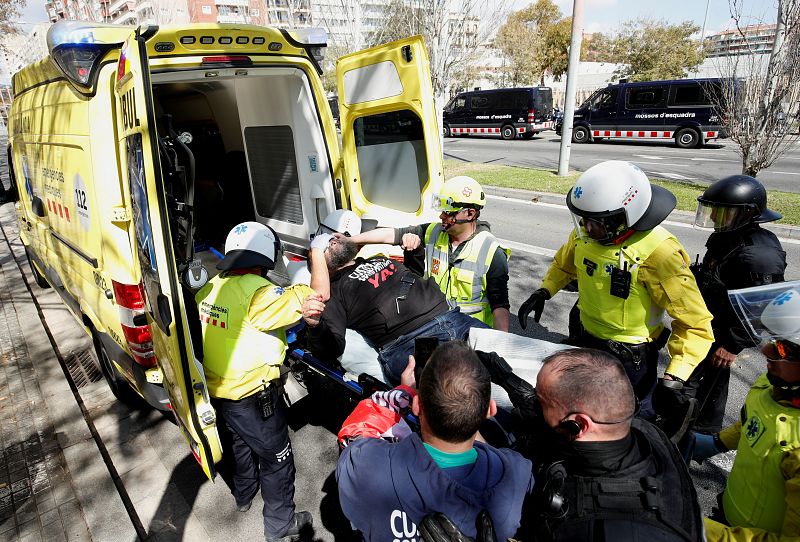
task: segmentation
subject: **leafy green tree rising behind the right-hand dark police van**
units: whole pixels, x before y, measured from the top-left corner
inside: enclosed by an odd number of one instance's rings
[[[699,66],[705,58],[703,48],[691,39],[700,30],[685,21],[669,24],[653,19],[626,21],[613,42],[613,55],[625,64],[617,70],[631,81],[678,79]]]

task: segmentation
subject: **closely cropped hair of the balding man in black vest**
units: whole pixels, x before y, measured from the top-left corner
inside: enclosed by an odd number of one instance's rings
[[[557,380],[551,393],[571,412],[598,420],[622,420],[635,408],[633,387],[622,363],[602,350],[570,348],[547,356]]]

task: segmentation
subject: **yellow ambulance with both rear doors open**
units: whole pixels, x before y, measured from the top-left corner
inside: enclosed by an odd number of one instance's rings
[[[14,75],[9,118],[33,274],[92,336],[117,397],[171,409],[213,478],[194,294],[243,221],[271,226],[299,260],[336,208],[387,226],[435,219],[442,153],[422,39],[337,61],[341,146],[312,30],[59,22],[48,48]]]

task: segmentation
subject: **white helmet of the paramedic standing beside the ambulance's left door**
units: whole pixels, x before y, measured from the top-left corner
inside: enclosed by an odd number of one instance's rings
[[[273,269],[280,252],[281,242],[272,228],[260,222],[242,222],[225,239],[225,258],[217,264],[217,269]]]

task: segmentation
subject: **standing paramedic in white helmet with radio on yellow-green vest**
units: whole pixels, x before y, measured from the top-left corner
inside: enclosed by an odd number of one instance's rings
[[[630,162],[587,169],[567,194],[575,229],[518,314],[523,328],[530,312],[538,321],[545,301],[577,279],[578,346],[619,358],[641,401],[641,416],[661,415],[662,428],[677,441],[695,408],[683,383],[714,337],[689,256],[659,225],[675,203],[671,192],[651,185]],[[664,311],[674,319],[671,335]],[[656,386],[658,350],[667,335],[670,362]]]

